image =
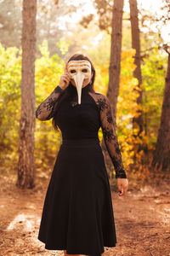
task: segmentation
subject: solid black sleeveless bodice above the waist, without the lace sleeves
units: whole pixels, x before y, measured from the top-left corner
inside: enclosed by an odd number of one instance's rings
[[[54,119],[63,139],[98,138],[99,108],[89,95],[89,84],[82,88],[81,104],[78,104],[77,88],[69,85],[71,96],[59,104]]]

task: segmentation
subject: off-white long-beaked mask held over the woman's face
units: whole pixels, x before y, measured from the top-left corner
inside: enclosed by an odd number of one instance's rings
[[[84,79],[91,79],[91,63],[89,61],[69,61],[68,73],[74,79],[77,86],[78,104],[81,104],[82,84]]]

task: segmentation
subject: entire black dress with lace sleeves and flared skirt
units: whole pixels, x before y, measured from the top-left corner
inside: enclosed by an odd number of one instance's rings
[[[55,107],[63,90],[59,85],[36,111],[40,120],[52,117],[62,133],[62,144],[45,197],[38,239],[48,250],[100,256],[116,246],[111,188],[99,143],[102,127],[116,177],[126,177],[108,98],[82,88],[81,105],[71,83],[69,96]]]

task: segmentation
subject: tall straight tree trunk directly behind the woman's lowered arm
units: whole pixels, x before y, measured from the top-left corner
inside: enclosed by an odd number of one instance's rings
[[[121,73],[121,52],[122,52],[122,14],[123,14],[123,0],[115,0],[112,9],[111,21],[111,58],[109,67],[109,85],[107,97],[111,102],[111,110],[113,113],[113,120],[116,125],[116,104],[119,95],[119,81]],[[105,152],[105,162],[109,169],[112,167],[111,159],[106,153],[104,139],[102,140],[102,148]],[[112,172],[111,172],[112,173]]]

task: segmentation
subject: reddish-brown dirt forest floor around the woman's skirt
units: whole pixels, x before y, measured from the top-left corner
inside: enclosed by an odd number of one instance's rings
[[[0,255],[56,255],[37,240],[48,179],[34,189],[18,189],[14,177],[0,181]],[[116,222],[116,247],[105,247],[105,256],[170,255],[169,186],[129,188],[127,195],[112,193]]]

